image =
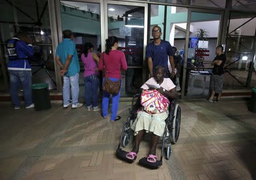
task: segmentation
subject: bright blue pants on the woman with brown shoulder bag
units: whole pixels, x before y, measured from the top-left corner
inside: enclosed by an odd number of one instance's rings
[[[119,79],[117,78],[109,78],[110,80],[113,80],[113,82],[117,82]],[[104,83],[105,78],[102,79],[102,84]],[[121,89],[121,88],[120,88]],[[103,91],[103,97],[102,97],[102,115],[104,117],[107,117],[108,115],[108,108],[109,108],[109,96],[110,94],[106,91]],[[119,103],[119,97],[120,97],[120,90],[116,95],[112,95],[112,114],[110,117],[110,120],[114,120],[117,118],[117,110],[118,110],[118,103]]]

